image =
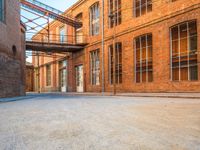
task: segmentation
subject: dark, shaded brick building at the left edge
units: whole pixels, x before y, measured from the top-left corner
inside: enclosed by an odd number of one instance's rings
[[[0,0],[0,97],[25,95],[25,26],[16,0]]]

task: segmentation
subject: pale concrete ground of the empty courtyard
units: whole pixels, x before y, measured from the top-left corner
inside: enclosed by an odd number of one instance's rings
[[[2,102],[0,150],[200,150],[200,100],[46,94]]]

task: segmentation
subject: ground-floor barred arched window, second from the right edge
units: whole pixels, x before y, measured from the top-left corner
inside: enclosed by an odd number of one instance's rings
[[[135,80],[136,83],[153,81],[152,34],[135,39]]]

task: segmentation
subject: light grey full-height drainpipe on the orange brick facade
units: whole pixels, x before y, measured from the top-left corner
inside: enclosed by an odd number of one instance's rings
[[[102,95],[105,92],[105,77],[104,77],[104,0],[102,0]]]

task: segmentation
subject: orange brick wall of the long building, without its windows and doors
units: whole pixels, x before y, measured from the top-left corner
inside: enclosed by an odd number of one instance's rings
[[[65,13],[71,16],[77,16],[82,13],[83,35],[88,45],[81,52],[67,54],[68,60],[68,91],[76,91],[75,66],[83,64],[84,66],[84,91],[100,92],[102,89],[102,1],[100,5],[100,33],[91,36],[89,27],[89,8],[95,2],[94,0],[80,0]],[[162,0],[152,2],[152,11],[140,17],[134,16],[134,0],[121,2],[122,23],[116,26],[116,42],[122,43],[122,84],[116,86],[118,92],[199,92],[200,91],[200,65],[198,64],[197,81],[171,81],[170,74],[170,28],[176,24],[196,20],[197,23],[197,51],[200,47],[200,3],[198,0]],[[104,76],[105,91],[112,91],[113,85],[109,83],[108,75],[108,47],[113,44],[114,28],[109,28],[108,18],[108,0],[105,0],[105,45],[104,45]],[[58,27],[61,23],[55,21],[51,24],[51,32],[58,33]],[[66,26],[69,35],[75,35],[75,30]],[[136,83],[135,82],[135,43],[134,39],[138,36],[151,33],[153,46],[153,82]],[[36,35],[37,37],[38,35]],[[90,83],[90,51],[100,49],[100,85],[91,85]],[[198,60],[200,54],[198,53]],[[35,58],[36,59],[36,58]],[[40,58],[41,66],[48,62],[47,58]],[[58,59],[58,58],[56,58]],[[36,63],[35,63],[36,65]],[[54,75],[52,80],[55,84],[52,88],[59,89],[57,63],[54,64]],[[55,69],[55,70],[54,70]],[[40,71],[40,84],[44,87],[45,73],[44,69]],[[45,91],[45,90],[44,90]]]

